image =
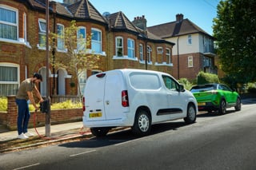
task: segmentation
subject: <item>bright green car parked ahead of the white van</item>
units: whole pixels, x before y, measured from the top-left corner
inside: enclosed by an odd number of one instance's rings
[[[239,94],[223,84],[194,85],[190,92],[198,101],[198,111],[218,111],[225,114],[226,109],[234,107],[235,111],[241,110]]]

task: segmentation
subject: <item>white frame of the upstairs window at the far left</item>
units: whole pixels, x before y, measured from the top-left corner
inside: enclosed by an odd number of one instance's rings
[[[3,10],[13,11],[15,13],[15,18],[16,18],[15,23],[0,20],[0,24],[2,24],[2,25],[16,27],[16,38],[15,39],[14,38],[0,38],[0,40],[5,41],[5,42],[6,41],[16,41],[17,42],[18,41],[18,10],[15,8],[12,8],[10,6],[4,6],[4,5],[0,5],[0,8],[2,8]]]

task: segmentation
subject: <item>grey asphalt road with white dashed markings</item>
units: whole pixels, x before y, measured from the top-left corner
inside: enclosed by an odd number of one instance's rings
[[[226,115],[203,113],[197,122],[154,125],[90,140],[0,155],[0,169],[256,169],[256,104]]]

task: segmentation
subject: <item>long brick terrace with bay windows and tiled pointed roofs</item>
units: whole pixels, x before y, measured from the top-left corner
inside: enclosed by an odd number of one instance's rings
[[[91,51],[100,55],[98,69],[84,70],[81,77],[70,70],[50,65],[50,95],[77,94],[71,83],[84,86],[93,73],[109,69],[153,69],[173,74],[173,42],[166,41],[146,28],[144,16],[130,22],[122,12],[100,14],[88,0],[50,1],[49,31],[62,34],[75,20],[79,34],[92,36]],[[46,1],[2,0],[0,2],[0,96],[15,95],[20,82],[34,72],[46,80]],[[65,44],[58,39],[50,47],[50,57],[62,57]],[[39,85],[46,95],[46,81]]]

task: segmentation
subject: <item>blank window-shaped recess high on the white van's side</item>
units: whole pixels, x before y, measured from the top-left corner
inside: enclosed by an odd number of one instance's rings
[[[130,84],[134,89],[159,89],[161,87],[157,74],[130,73]]]

